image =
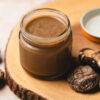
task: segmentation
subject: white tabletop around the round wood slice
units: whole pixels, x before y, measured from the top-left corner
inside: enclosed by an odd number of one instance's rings
[[[51,0],[0,0],[0,50],[2,58],[11,30],[19,19],[31,9]],[[4,70],[4,63],[0,64]],[[0,100],[20,100],[6,85],[0,90]]]

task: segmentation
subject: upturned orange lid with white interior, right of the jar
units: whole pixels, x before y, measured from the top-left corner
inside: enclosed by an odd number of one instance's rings
[[[88,39],[100,43],[100,8],[87,11],[80,23],[83,34]]]

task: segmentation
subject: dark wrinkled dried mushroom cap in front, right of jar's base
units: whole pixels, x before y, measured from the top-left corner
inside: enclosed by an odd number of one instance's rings
[[[98,74],[89,66],[78,66],[68,77],[68,83],[77,92],[92,90],[99,81]]]

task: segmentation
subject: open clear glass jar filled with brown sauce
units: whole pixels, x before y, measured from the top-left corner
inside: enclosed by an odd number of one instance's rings
[[[60,36],[49,39],[26,32],[26,24],[41,16],[60,18],[66,30]],[[38,78],[56,78],[68,72],[72,51],[72,31],[68,17],[50,8],[36,9],[26,14],[20,25],[19,50],[22,67]]]

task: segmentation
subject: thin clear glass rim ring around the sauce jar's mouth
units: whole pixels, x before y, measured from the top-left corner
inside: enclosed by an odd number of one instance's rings
[[[67,20],[67,28],[64,32],[61,33],[60,36],[58,37],[52,37],[52,38],[44,38],[44,37],[39,37],[36,35],[31,35],[28,32],[25,31],[24,27],[23,27],[23,22],[24,19],[31,15],[32,13],[36,13],[38,11],[47,11],[47,12],[55,12],[60,14],[62,17],[65,17],[65,19]],[[20,31],[24,34],[23,37],[25,39],[27,39],[30,42],[33,42],[35,45],[39,45],[39,46],[53,46],[53,45],[57,45],[63,41],[65,41],[70,34],[71,28],[70,28],[70,21],[67,17],[66,14],[64,14],[63,12],[57,10],[57,9],[52,9],[52,8],[39,8],[39,9],[33,9],[31,11],[29,11],[27,14],[24,15],[24,17],[21,20],[21,24],[20,24]]]

